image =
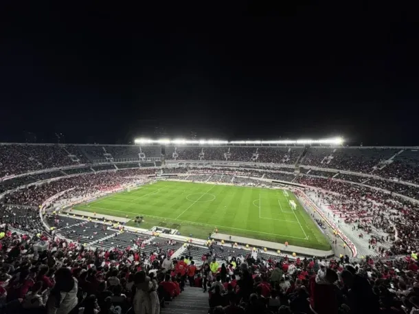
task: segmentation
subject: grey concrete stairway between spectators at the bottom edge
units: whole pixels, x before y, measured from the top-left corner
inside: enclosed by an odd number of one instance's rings
[[[203,293],[201,288],[189,287],[171,302],[166,302],[166,307],[160,309],[161,314],[207,314],[208,293]]]

